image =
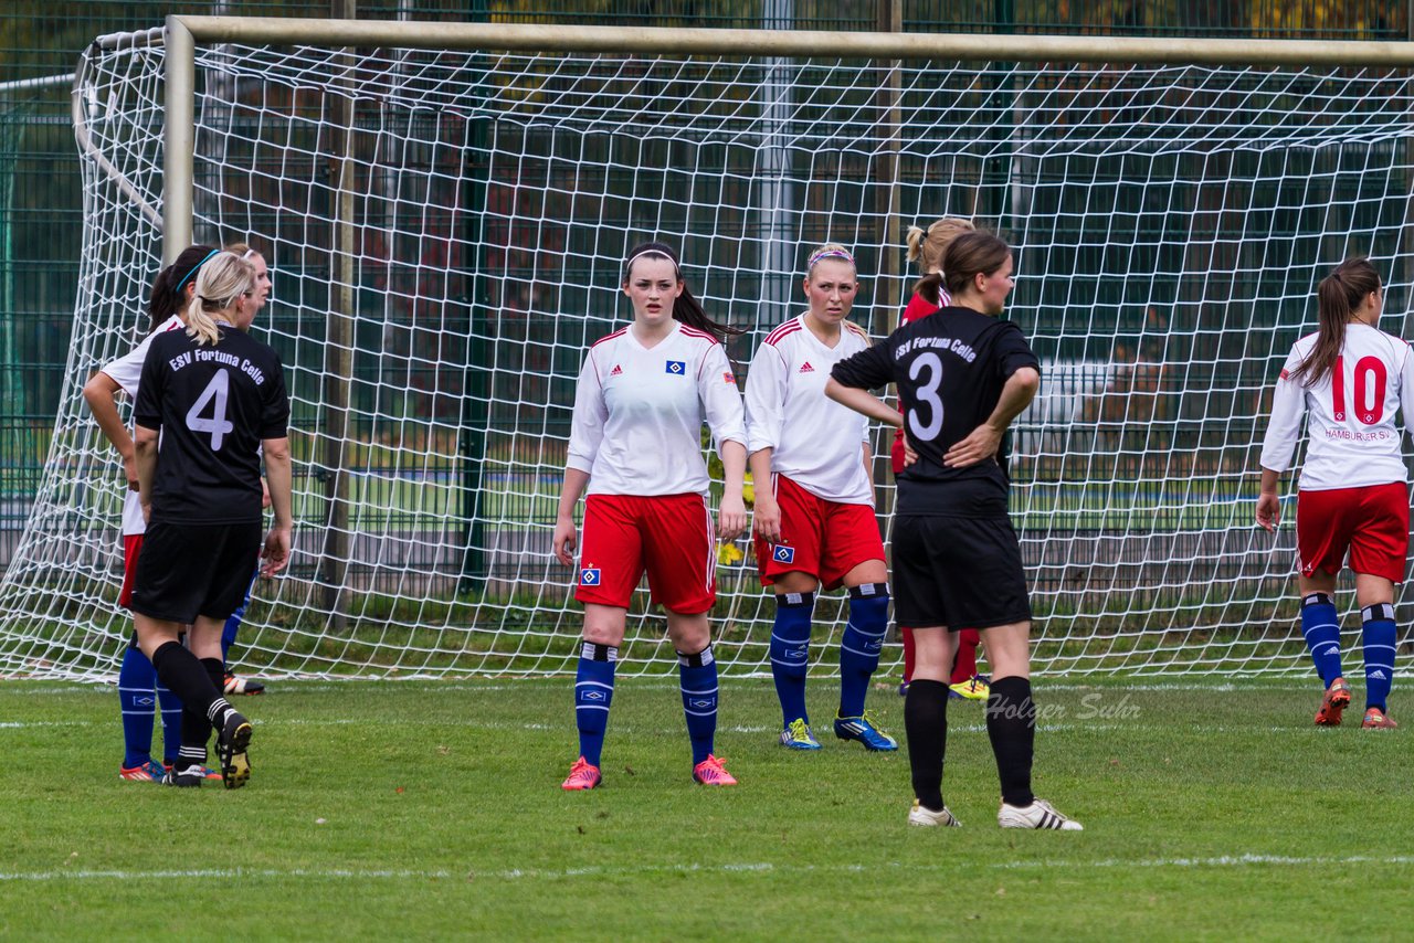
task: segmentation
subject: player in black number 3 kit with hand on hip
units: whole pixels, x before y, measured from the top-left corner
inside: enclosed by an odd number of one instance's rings
[[[943,254],[953,305],[837,363],[826,394],[902,427],[918,454],[898,478],[894,519],[895,618],[918,645],[904,701],[915,795],[909,824],[957,824],[942,795],[950,629],[976,626],[994,670],[987,735],[1001,779],[997,823],[1079,830],[1031,792],[1031,599],[997,454],[1011,420],[1035,397],[1041,370],[1021,329],[997,320],[1011,271],[1011,249],[997,236],[957,236]],[[898,386],[904,413],[868,392],[887,383]]]

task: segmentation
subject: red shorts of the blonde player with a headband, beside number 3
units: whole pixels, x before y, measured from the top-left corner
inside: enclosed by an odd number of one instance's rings
[[[817,498],[785,475],[772,475],[771,482],[781,506],[781,543],[755,537],[761,585],[799,570],[837,590],[850,570],[884,558],[874,508]]]

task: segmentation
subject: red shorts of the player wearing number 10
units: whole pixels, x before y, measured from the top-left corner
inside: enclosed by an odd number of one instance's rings
[[[1410,549],[1410,496],[1404,482],[1297,492],[1301,574],[1350,570],[1404,582]]]

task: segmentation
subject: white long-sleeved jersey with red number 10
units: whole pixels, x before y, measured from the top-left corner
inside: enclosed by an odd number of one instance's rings
[[[1287,471],[1301,437],[1301,414],[1309,411],[1307,461],[1299,486],[1331,491],[1406,481],[1400,454],[1401,427],[1414,416],[1414,356],[1400,338],[1366,324],[1348,324],[1335,370],[1305,386],[1292,379],[1311,353],[1316,335],[1297,341],[1271,397],[1271,421],[1261,447],[1261,467]]]

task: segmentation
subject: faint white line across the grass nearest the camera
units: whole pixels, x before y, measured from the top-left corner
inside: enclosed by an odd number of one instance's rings
[[[1209,858],[1104,858],[1100,861],[1007,861],[987,865],[998,871],[1018,869],[1107,869],[1107,868],[1332,868],[1345,865],[1403,865],[1414,864],[1414,855],[1348,855],[1348,857],[1298,857],[1298,855],[1268,855],[1268,854],[1232,854]],[[884,865],[840,864],[840,865],[796,865],[776,864],[769,861],[740,862],[740,864],[662,864],[636,865],[628,868],[510,868],[499,871],[413,871],[413,869],[348,869],[348,868],[204,868],[204,869],[164,869],[164,871],[88,871],[88,869],[55,869],[55,871],[0,871],[0,884],[14,882],[44,882],[44,881],[168,881],[171,878],[218,878],[218,879],[260,879],[274,878],[310,879],[310,881],[426,881],[426,879],[465,879],[465,881],[566,881],[573,878],[605,878],[628,877],[643,874],[863,874],[877,872],[880,868],[906,869],[909,874],[918,871],[953,871],[954,864],[901,864],[896,861]]]

